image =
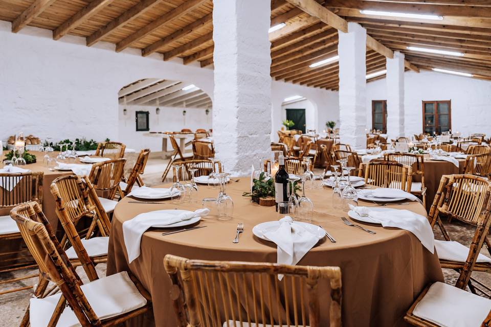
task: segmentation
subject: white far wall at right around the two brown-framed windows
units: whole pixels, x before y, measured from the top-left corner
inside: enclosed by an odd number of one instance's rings
[[[436,72],[405,73],[405,134],[422,132],[421,101],[452,101],[452,131],[491,135],[491,82]],[[372,100],[387,100],[386,80],[367,83],[367,128]],[[389,126],[387,126],[389,128]]]

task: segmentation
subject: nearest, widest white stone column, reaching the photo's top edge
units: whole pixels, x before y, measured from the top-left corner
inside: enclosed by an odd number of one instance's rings
[[[240,176],[271,156],[270,3],[213,1],[213,139],[225,170]]]

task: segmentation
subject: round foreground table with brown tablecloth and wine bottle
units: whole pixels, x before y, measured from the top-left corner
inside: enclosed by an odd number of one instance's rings
[[[166,185],[169,187],[170,185]],[[194,199],[198,203],[176,204],[162,200],[159,204],[128,203],[123,198],[116,206],[109,240],[107,275],[131,271],[151,294],[155,325],[176,326],[169,291],[171,283],[164,270],[163,259],[168,253],[189,259],[271,262],[277,259],[276,245],[256,238],[252,228],[261,222],[277,220],[275,207],[262,207],[243,197],[250,189],[250,179],[242,178],[227,185],[227,194],[234,201],[233,218],[220,221],[207,216],[198,224],[206,228],[162,236],[164,229],[152,228],[144,233],[139,258],[128,264],[122,224],[138,214],[161,209],[189,209],[201,207],[200,200],[217,195],[216,189],[198,186]],[[306,190],[315,205],[314,222],[322,225],[337,240],[326,238],[311,249],[298,265],[339,266],[343,282],[344,326],[399,326],[406,325],[403,316],[420,291],[431,282],[443,281],[436,252],[431,254],[412,233],[397,228],[364,224],[376,231],[371,235],[345,225],[340,217],[346,212],[331,207],[331,190]],[[134,199],[133,199],[134,200]],[[141,200],[144,201],[144,200]],[[373,203],[360,201],[360,205]],[[391,207],[409,209],[426,215],[417,202]],[[322,214],[321,214],[322,213]],[[244,223],[240,242],[233,244],[237,223]],[[328,325],[329,286],[319,285],[321,325]],[[147,319],[148,321],[148,319]],[[133,321],[132,325],[146,325]],[[148,324],[147,324],[148,325]],[[150,324],[151,325],[151,324]]]

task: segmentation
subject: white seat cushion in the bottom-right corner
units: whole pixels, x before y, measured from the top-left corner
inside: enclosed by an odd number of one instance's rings
[[[479,327],[491,300],[436,282],[416,305],[413,315],[444,327]]]

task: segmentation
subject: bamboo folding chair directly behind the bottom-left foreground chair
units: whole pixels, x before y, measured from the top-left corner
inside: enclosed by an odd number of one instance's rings
[[[56,200],[56,215],[61,222],[65,235],[61,240],[71,260],[79,259],[87,277],[94,281],[98,278],[95,265],[107,262],[110,222],[104,207],[97,197],[94,186],[86,176],[61,176],[50,187]],[[76,225],[84,220],[90,221],[88,229],[77,231]],[[96,227],[101,237],[93,237]],[[83,235],[83,233],[85,235]],[[68,245],[71,248],[68,248]],[[68,248],[68,249],[67,249]]]

